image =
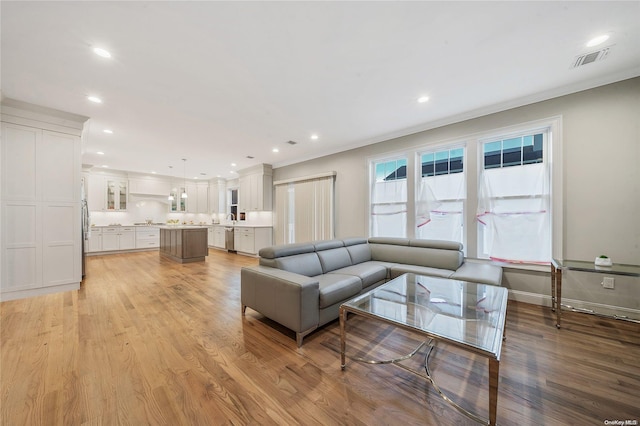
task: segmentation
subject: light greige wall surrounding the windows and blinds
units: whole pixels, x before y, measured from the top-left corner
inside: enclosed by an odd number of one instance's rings
[[[562,117],[564,258],[606,253],[640,264],[640,78],[274,168],[273,180],[336,171],[336,237],[367,236],[367,158],[554,116]],[[579,278],[594,288],[600,280]],[[548,273],[509,269],[505,285],[512,297],[549,303]],[[608,303],[637,307],[640,286],[625,287],[609,293]]]

